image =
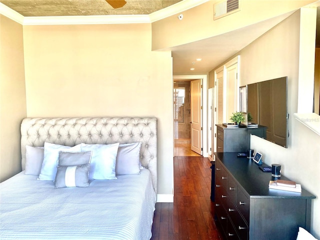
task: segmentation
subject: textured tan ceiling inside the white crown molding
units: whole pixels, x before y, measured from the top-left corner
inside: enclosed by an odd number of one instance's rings
[[[105,0],[0,0],[23,16],[150,14],[181,0],[126,0],[113,9]]]

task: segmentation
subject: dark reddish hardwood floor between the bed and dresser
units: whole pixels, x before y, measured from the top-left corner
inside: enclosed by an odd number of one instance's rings
[[[202,156],[175,156],[173,203],[156,203],[151,240],[222,239],[210,200],[211,163]]]

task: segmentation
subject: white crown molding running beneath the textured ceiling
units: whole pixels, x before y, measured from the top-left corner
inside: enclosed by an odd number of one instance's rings
[[[161,10],[144,15],[90,16],[23,16],[0,2],[0,14],[22,25],[151,23],[195,7],[206,1],[209,0],[182,0]]]

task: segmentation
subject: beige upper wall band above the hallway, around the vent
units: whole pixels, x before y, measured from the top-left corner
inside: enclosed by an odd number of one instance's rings
[[[182,20],[178,19],[177,13],[153,22],[152,49],[173,47],[236,30],[296,10],[315,0],[290,0],[289,4],[285,0],[242,0],[240,11],[213,20],[213,3],[220,1],[210,0],[185,10],[181,12]]]

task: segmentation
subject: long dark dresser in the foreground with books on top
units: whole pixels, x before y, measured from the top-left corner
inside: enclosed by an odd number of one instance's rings
[[[268,188],[274,180],[237,152],[215,152],[215,214],[226,239],[292,240],[310,230],[310,192]],[[288,180],[285,176],[279,179]]]

